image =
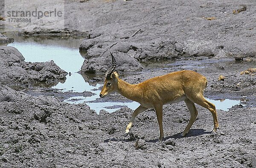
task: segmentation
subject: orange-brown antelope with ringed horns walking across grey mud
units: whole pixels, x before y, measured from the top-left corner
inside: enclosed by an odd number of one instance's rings
[[[110,53],[111,54],[111,53]],[[163,76],[157,76],[143,81],[139,84],[128,84],[119,79],[119,73],[116,68],[116,60],[111,54],[112,64],[105,74],[105,83],[99,96],[101,98],[110,93],[117,92],[128,99],[137,101],[140,106],[134,110],[131,121],[126,127],[125,135],[134,122],[135,117],[148,108],[154,108],[157,113],[157,120],[160,129],[159,140],[163,140],[163,104],[178,103],[185,101],[189,112],[190,120],[181,136],[185,136],[190,127],[195,122],[198,111],[195,103],[207,108],[211,113],[214,121],[213,131],[218,128],[218,118],[215,105],[207,101],[203,92],[207,86],[207,79],[197,72],[183,70],[172,72]]]

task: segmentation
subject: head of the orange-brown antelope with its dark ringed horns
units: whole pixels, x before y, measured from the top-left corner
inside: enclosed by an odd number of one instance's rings
[[[117,81],[118,81],[118,76],[119,73],[117,72],[116,69],[116,59],[114,56],[111,54],[112,58],[112,64],[108,68],[107,72],[105,73],[105,82],[104,86],[102,88],[101,93],[99,94],[99,97],[103,98],[105,96],[108,96],[110,93],[113,93],[117,91]]]

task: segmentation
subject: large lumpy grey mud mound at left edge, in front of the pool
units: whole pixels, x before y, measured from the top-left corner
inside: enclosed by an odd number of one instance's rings
[[[31,63],[24,60],[14,47],[0,46],[0,82],[14,85],[47,82],[54,85],[66,79],[67,72],[53,61]]]

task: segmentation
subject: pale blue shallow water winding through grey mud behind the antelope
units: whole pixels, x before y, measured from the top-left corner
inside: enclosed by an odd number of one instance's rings
[[[67,39],[64,39],[67,41]],[[58,39],[60,42],[60,39]],[[51,44],[49,44],[51,43]],[[62,43],[61,43],[62,44]],[[101,109],[104,109],[108,112],[113,112],[120,107],[127,106],[133,110],[135,110],[139,103],[137,102],[92,102],[99,98],[99,87],[102,84],[93,83],[90,84],[86,81],[83,76],[78,72],[81,69],[81,66],[84,62],[84,58],[80,55],[78,46],[70,46],[70,45],[54,45],[54,41],[47,41],[47,43],[37,43],[35,41],[17,41],[14,43],[8,44],[8,46],[13,46],[17,48],[25,58],[25,61],[30,62],[45,62],[53,60],[61,69],[71,72],[71,75],[67,75],[67,79],[64,83],[58,83],[57,85],[53,86],[52,88],[55,89],[62,89],[62,92],[84,92],[90,91],[95,93],[95,95],[90,97],[83,97],[83,96],[75,96],[67,98],[66,102],[69,103],[86,103],[90,106],[91,109],[95,110],[97,113]],[[106,98],[107,99],[107,98]],[[233,105],[240,104],[238,100],[212,100],[207,99],[215,104],[217,109],[221,110],[228,110]]]

